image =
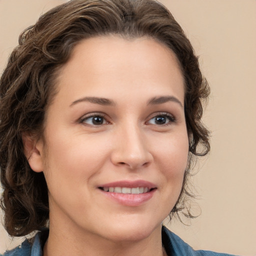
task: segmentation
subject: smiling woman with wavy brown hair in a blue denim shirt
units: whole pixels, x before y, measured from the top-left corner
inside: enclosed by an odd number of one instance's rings
[[[73,0],[19,39],[0,80],[4,255],[214,255],[162,227],[209,150],[208,85],[154,0]],[[199,151],[198,147],[200,146]]]

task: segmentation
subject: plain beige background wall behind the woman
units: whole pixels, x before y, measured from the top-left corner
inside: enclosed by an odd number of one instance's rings
[[[63,1],[0,0],[0,72],[20,31]],[[161,2],[192,41],[212,91],[212,149],[193,178],[201,215],[170,228],[195,249],[256,255],[256,0]],[[0,227],[0,252],[18,242]]]

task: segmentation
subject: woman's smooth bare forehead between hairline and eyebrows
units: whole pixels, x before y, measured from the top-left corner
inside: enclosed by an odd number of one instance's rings
[[[125,39],[120,36],[98,36],[80,41],[69,60],[59,70],[57,84],[69,94],[108,94],[123,88],[157,93],[159,85],[175,87],[182,94],[183,76],[175,54],[164,44],[148,37]],[[78,86],[79,85],[79,86]],[[77,87],[74,89],[74,87]],[[102,95],[106,96],[106,95]]]

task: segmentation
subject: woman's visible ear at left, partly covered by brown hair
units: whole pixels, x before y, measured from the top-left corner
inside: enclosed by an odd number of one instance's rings
[[[42,140],[27,134],[22,134],[22,140],[24,145],[24,153],[31,169],[35,172],[41,172],[43,170]]]

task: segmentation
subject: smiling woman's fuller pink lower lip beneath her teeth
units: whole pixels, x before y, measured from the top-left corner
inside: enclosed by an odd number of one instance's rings
[[[141,193],[141,194],[123,194],[123,193],[115,193],[115,192],[105,192],[104,190],[100,190],[110,199],[115,200],[116,202],[126,205],[126,206],[138,206],[148,201],[154,194],[156,189],[152,189],[149,192]]]

